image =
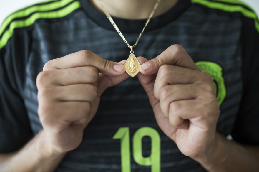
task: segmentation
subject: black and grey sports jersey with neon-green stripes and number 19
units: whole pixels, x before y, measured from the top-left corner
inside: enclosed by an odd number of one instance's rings
[[[130,45],[146,22],[114,21]],[[180,0],[151,19],[134,52],[150,60],[173,44],[182,45],[212,76],[221,111],[217,131],[241,144],[258,145],[255,12],[235,0]],[[42,129],[36,77],[44,64],[79,50],[115,62],[126,60],[130,51],[107,17],[87,0],[46,1],[6,18],[0,29],[1,153],[20,149]],[[137,77],[129,77],[103,93],[82,143],[67,153],[56,171],[206,170],[161,131],[143,87]]]

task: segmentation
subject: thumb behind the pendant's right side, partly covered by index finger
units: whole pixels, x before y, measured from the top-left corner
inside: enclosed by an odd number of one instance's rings
[[[137,57],[137,59],[140,62],[140,64],[148,61],[144,57]],[[144,75],[141,72],[139,72],[137,74],[137,77],[140,81],[140,84],[142,85],[142,87],[144,88],[144,90],[148,95],[151,106],[154,107],[159,102],[159,100],[154,96],[154,84],[155,84],[157,75],[156,74]]]

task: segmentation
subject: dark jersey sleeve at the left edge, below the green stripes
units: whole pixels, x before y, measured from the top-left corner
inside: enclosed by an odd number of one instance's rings
[[[31,41],[26,30],[15,30],[8,41],[4,33],[0,33],[0,153],[16,151],[32,137],[22,95]]]

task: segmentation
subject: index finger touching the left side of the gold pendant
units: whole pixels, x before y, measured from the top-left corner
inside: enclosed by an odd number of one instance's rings
[[[43,71],[83,66],[93,66],[97,68],[100,73],[108,76],[122,75],[125,72],[124,65],[105,60],[88,50],[78,51],[61,58],[50,60],[44,65]]]

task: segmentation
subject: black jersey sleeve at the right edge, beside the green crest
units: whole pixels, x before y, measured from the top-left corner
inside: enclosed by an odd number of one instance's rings
[[[259,145],[259,22],[243,17],[243,97],[231,133],[242,144]]]

